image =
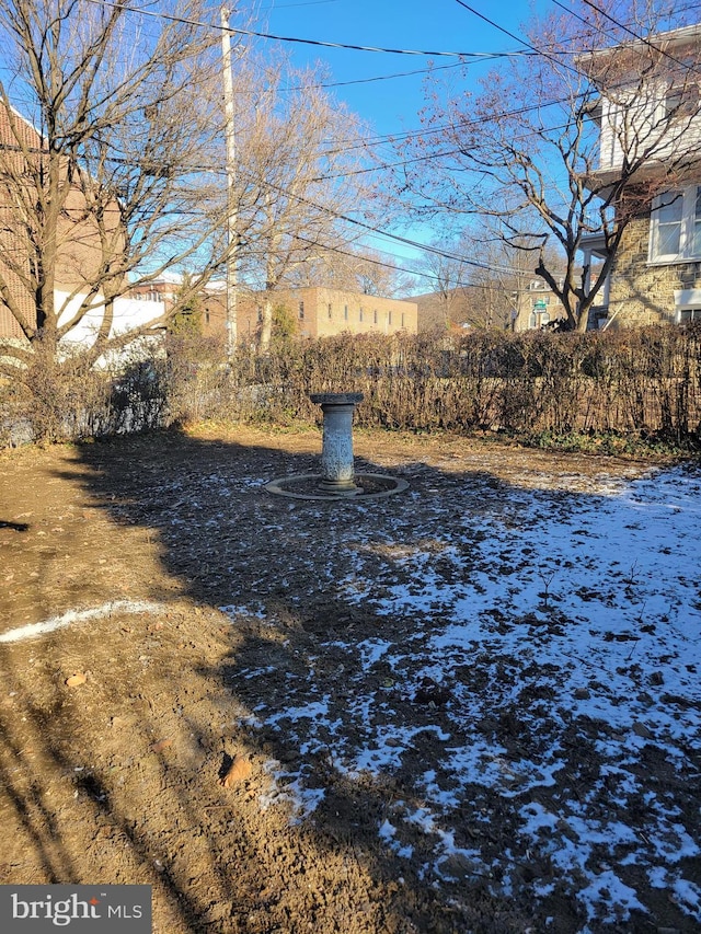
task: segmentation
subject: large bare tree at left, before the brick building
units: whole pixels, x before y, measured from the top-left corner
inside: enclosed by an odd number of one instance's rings
[[[123,343],[114,302],[139,277],[192,266],[202,282],[221,263],[226,203],[203,164],[221,148],[218,34],[196,25],[200,0],[166,13],[0,0],[0,301],[24,337],[1,366],[20,379],[88,324],[89,360]]]

